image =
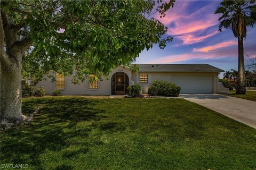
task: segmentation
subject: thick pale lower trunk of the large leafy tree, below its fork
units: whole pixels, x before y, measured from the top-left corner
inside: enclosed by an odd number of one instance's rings
[[[21,113],[21,54],[11,65],[1,63],[1,122],[19,123]],[[14,57],[13,57],[14,58]]]

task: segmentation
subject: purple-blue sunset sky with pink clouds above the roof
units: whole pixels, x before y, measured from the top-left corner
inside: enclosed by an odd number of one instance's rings
[[[219,14],[214,14],[220,1],[176,1],[164,18],[153,16],[168,27],[173,37],[164,49],[158,45],[143,50],[135,63],[206,63],[222,70],[237,70],[237,39],[231,29],[219,29]],[[244,52],[256,56],[256,25],[247,28]],[[246,60],[246,56],[245,60]],[[246,62],[246,61],[245,61]]]

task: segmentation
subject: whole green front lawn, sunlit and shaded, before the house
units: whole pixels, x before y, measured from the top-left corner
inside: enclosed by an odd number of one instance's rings
[[[256,130],[185,99],[23,99],[34,121],[1,134],[29,169],[256,169]]]

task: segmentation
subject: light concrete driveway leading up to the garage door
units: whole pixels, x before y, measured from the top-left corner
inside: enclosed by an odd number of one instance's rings
[[[218,94],[181,94],[180,97],[256,129],[256,101]]]

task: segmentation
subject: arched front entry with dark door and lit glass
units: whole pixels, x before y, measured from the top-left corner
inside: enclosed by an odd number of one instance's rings
[[[111,78],[111,94],[125,95],[129,87],[129,77],[124,72],[117,72]]]

